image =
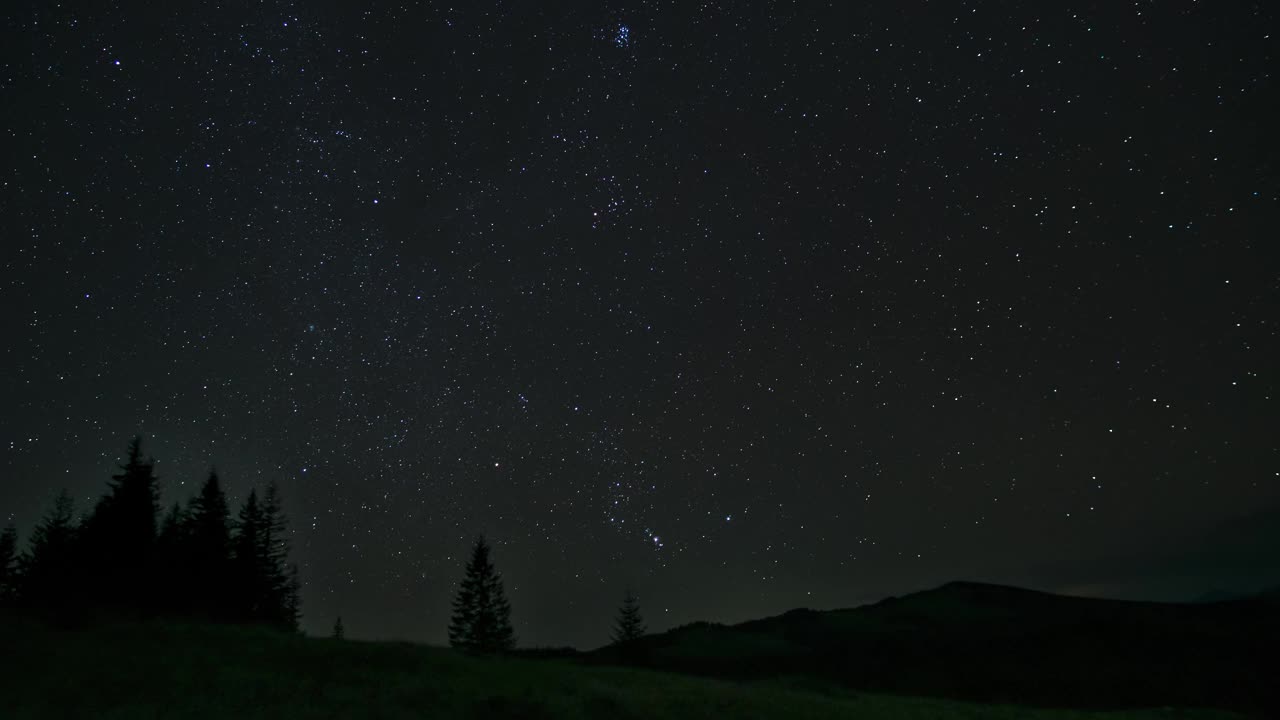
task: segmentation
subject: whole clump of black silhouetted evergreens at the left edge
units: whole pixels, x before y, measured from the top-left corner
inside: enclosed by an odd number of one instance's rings
[[[155,460],[142,439],[82,518],[63,491],[18,552],[0,532],[0,602],[56,620],[188,616],[297,630],[297,566],[274,483],[232,518],[216,471],[161,516]]]

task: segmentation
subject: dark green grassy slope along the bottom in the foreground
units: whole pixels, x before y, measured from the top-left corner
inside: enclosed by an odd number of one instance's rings
[[[1028,710],[806,692],[566,660],[467,657],[404,643],[252,628],[120,624],[51,630],[0,619],[0,717],[1236,717]]]

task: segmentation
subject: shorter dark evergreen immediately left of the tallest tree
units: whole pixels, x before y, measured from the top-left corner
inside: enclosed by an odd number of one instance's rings
[[[18,561],[18,600],[24,606],[58,614],[78,603],[74,512],[64,489],[31,533],[31,544]]]

